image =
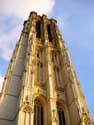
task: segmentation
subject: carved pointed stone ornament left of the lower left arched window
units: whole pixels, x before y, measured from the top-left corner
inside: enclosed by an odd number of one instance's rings
[[[32,111],[32,107],[28,99],[28,96],[26,96],[25,101],[22,104],[22,111],[27,113],[30,113]]]

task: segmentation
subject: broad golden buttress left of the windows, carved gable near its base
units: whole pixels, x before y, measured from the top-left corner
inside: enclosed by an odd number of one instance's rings
[[[30,19],[28,20],[30,21]],[[33,21],[32,21],[33,22]],[[23,75],[23,85],[21,90],[21,101],[20,107],[21,111],[18,116],[18,125],[31,125],[33,124],[32,113],[33,113],[33,94],[32,94],[32,32],[31,22],[28,24],[29,31],[28,31],[28,42],[27,42],[27,51],[26,51],[26,60],[25,60],[25,69]],[[25,29],[27,32],[27,30]],[[32,106],[31,106],[32,105]],[[23,117],[21,117],[23,116]],[[22,119],[23,118],[23,119]]]

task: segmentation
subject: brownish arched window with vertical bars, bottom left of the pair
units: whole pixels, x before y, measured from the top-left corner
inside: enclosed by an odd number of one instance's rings
[[[34,125],[44,125],[43,106],[39,100],[35,100],[34,102]]]

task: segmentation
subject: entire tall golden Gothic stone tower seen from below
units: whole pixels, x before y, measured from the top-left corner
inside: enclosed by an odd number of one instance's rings
[[[57,21],[31,12],[0,98],[0,125],[90,125],[90,116]]]

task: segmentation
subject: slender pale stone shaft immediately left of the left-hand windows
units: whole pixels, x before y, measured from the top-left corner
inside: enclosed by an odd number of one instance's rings
[[[36,42],[36,18],[37,13],[33,12],[31,16],[31,22],[32,27],[30,31],[30,38],[32,40],[32,56],[31,56],[31,62],[32,62],[32,113],[31,113],[31,121],[30,125],[34,125],[34,86],[35,86],[35,80],[36,80],[36,64],[35,64],[35,46],[34,43]]]

